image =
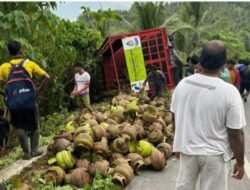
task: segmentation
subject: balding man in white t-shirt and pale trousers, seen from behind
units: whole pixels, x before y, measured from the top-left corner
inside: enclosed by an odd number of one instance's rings
[[[244,107],[238,90],[219,78],[225,63],[224,44],[208,42],[202,72],[183,79],[173,93],[173,148],[180,158],[176,190],[195,190],[197,179],[200,190],[227,190],[232,158],[233,177],[244,175]]]

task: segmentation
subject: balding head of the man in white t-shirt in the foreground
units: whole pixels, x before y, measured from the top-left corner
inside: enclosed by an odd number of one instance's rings
[[[227,49],[219,40],[207,42],[201,51],[200,65],[204,71],[219,72],[226,64]]]

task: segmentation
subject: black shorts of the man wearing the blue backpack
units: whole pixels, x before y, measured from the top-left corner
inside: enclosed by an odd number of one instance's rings
[[[11,111],[10,123],[17,129],[23,129],[25,131],[37,130],[39,128],[37,109]]]

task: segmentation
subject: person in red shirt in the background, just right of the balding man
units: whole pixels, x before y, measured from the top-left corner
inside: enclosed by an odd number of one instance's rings
[[[227,68],[230,72],[230,83],[237,89],[240,89],[240,74],[237,69],[234,68],[236,62],[233,59],[227,61]]]

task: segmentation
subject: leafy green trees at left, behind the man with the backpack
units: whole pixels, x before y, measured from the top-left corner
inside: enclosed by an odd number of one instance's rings
[[[72,65],[80,60],[85,65],[95,66],[94,56],[102,38],[98,31],[82,23],[64,21],[55,16],[50,7],[38,5],[5,5],[6,10],[0,13],[0,61],[9,61],[6,44],[15,39],[22,43],[27,58],[46,69],[51,81],[39,102],[41,113],[48,114],[68,107],[65,83],[73,77]]]

